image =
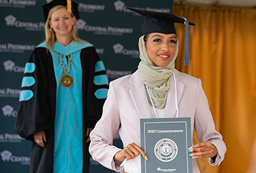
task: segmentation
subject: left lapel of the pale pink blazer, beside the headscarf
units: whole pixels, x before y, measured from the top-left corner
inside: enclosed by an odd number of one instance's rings
[[[137,72],[132,74],[130,83],[133,84],[134,87],[129,89],[129,92],[139,117],[152,118],[150,105],[146,96],[146,90],[144,84],[140,81]]]

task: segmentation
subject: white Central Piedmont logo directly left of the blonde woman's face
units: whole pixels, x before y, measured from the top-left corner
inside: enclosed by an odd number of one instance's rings
[[[16,20],[15,16],[11,14],[5,17],[5,22],[7,26],[11,27],[20,27],[24,28],[28,31],[44,31],[45,30],[45,23],[43,22],[20,22]]]

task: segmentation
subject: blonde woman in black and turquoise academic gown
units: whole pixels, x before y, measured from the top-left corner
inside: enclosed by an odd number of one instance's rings
[[[77,4],[43,5],[45,42],[26,63],[14,126],[31,140],[30,172],[89,172],[89,133],[108,91],[104,65],[77,37]]]

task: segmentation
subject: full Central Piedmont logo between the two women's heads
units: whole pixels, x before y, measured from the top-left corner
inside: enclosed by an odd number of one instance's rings
[[[77,20],[77,29],[81,31],[94,32],[96,35],[123,35],[132,34],[133,28],[112,27],[112,26],[91,26],[82,19]]]

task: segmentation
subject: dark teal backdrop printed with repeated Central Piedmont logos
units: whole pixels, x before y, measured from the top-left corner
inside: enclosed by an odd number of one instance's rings
[[[78,35],[91,42],[106,67],[108,80],[136,71],[144,17],[126,7],[171,12],[173,0],[74,0],[80,18]],[[24,67],[44,41],[46,1],[0,0],[0,172],[29,172],[30,141],[14,132]],[[117,134],[114,145],[122,148]],[[47,166],[47,165],[45,165]],[[91,159],[91,172],[113,172]]]

